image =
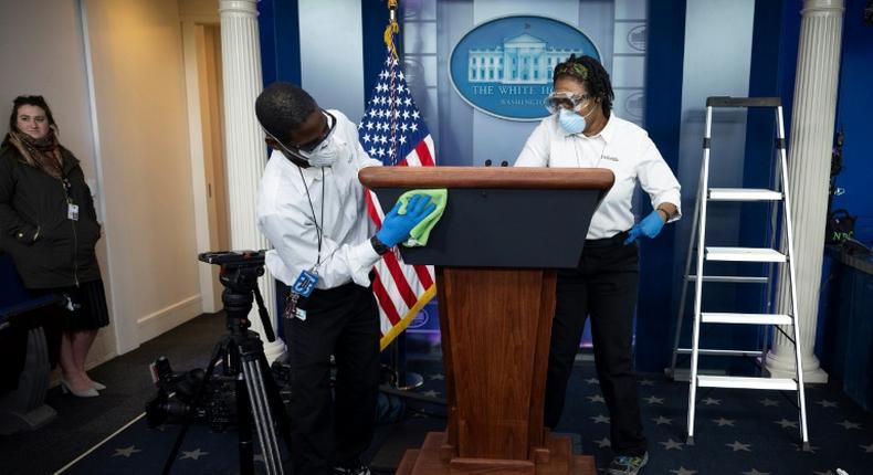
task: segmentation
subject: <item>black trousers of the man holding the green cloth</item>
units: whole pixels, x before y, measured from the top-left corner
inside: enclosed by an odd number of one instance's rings
[[[285,320],[295,475],[354,466],[372,440],[379,388],[379,310],[369,288],[316,289],[306,320]],[[330,387],[330,355],[336,383]]]

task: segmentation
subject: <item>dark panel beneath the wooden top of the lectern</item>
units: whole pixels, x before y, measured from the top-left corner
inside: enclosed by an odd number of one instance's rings
[[[383,211],[404,189],[375,190]],[[408,264],[576,267],[601,190],[454,188],[424,247],[400,246]],[[556,231],[560,230],[560,231]]]

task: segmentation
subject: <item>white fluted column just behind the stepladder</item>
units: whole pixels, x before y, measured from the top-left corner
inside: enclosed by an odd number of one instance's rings
[[[795,236],[798,325],[804,382],[828,382],[828,373],[812,352],[819,308],[824,250],[828,182],[837,114],[843,0],[804,0],[800,21],[795,104],[788,146],[788,182]],[[782,266],[777,304],[790,314],[791,291]],[[790,328],[783,328],[790,335]],[[781,332],[774,337],[767,369],[774,378],[795,373],[793,344]]]

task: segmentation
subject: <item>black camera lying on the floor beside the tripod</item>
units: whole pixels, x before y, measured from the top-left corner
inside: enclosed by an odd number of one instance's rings
[[[149,428],[162,424],[179,424],[186,418],[204,422],[215,432],[223,432],[236,424],[236,394],[233,377],[212,374],[207,387],[196,401],[206,372],[201,368],[190,371],[173,371],[167,357],[160,357],[149,366],[151,379],[158,394],[146,404],[146,421]]]

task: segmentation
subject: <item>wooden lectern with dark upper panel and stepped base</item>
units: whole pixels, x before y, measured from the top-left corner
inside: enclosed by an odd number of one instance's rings
[[[399,474],[595,474],[591,456],[543,426],[557,268],[576,267],[607,169],[372,167],[359,172],[388,211],[407,190],[449,189],[425,247],[436,266],[449,423]]]

